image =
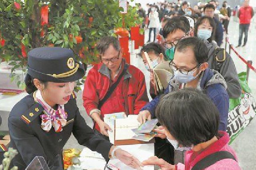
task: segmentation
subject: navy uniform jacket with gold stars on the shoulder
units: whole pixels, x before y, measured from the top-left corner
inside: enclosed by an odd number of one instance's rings
[[[53,127],[46,132],[41,128],[39,116],[43,108],[34,101],[32,94],[13,107],[8,118],[11,139],[9,147],[18,150],[18,155],[12,160],[12,165],[18,166],[18,170],[24,170],[35,156],[43,156],[50,170],[62,170],[62,149],[71,133],[79,144],[101,153],[108,161],[112,144],[95,135],[86,125],[73,96],[64,105],[64,109],[68,115],[67,125],[62,127],[61,132],[55,132]]]

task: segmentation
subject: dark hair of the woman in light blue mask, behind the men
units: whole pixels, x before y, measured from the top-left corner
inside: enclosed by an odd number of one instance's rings
[[[212,35],[210,38],[207,39],[208,42],[212,42],[214,40],[215,37],[215,31],[216,31],[216,23],[214,22],[214,20],[209,17],[209,16],[202,16],[200,17],[194,27],[194,36],[197,37],[197,32],[198,32],[198,27],[205,21],[208,20],[210,23],[210,26],[212,26]]]

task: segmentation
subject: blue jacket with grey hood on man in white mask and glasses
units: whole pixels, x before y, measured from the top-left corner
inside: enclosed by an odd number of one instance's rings
[[[170,93],[180,87],[180,82],[172,78],[169,82],[169,87],[164,90],[164,94]],[[226,131],[228,125],[228,107],[229,98],[226,91],[226,82],[224,78],[217,71],[206,69],[201,74],[200,89],[210,98],[220,112],[219,130]],[[155,116],[155,109],[159,103],[157,96],[152,101],[147,103],[141,111],[150,111],[152,117]]]

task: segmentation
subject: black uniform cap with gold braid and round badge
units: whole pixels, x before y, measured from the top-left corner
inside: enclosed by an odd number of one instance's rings
[[[71,49],[39,47],[28,52],[28,74],[41,81],[63,83],[81,79],[85,70]]]

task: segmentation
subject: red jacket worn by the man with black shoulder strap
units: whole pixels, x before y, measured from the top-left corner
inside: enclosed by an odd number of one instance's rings
[[[128,65],[122,60],[122,67],[116,76],[120,76],[124,67],[128,67],[120,83],[108,100],[102,105],[101,118],[105,114],[125,112],[129,114],[138,114],[140,109],[148,102],[146,83],[144,74],[136,67]],[[84,83],[83,101],[88,115],[92,109],[98,108],[98,102],[103,99],[110,85],[110,71],[103,63],[94,65],[90,69]],[[98,125],[96,129],[99,130]]]

